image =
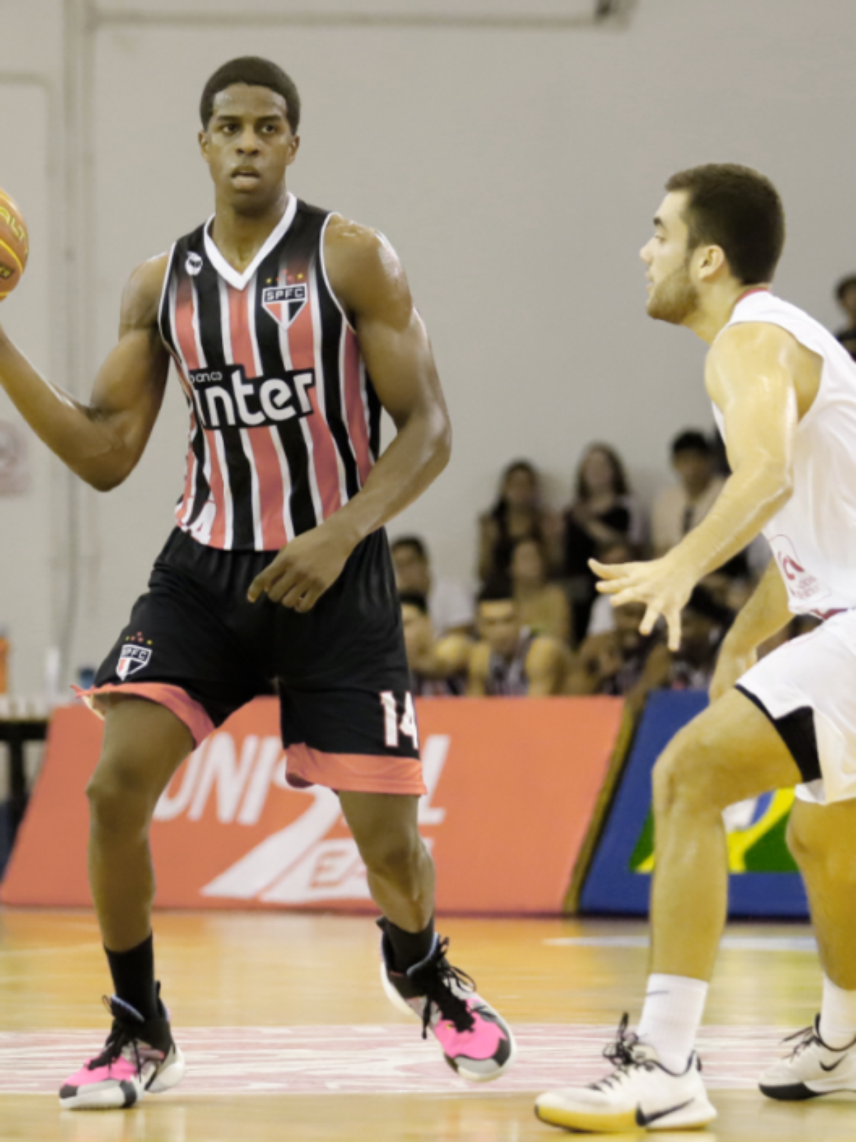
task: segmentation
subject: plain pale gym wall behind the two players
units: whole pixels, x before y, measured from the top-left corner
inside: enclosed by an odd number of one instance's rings
[[[47,6],[0,0],[2,26],[32,47]],[[236,19],[225,0],[110,0],[94,33],[92,368],[115,337],[131,267],[210,209],[195,146],[204,80],[231,56],[264,54],[304,97],[292,188],[387,233],[433,335],[455,455],[393,530],[422,531],[444,572],[467,574],[499,468],[532,457],[559,500],[596,437],[653,491],[676,429],[711,420],[701,344],[644,313],[637,251],[663,180],[712,160],[769,174],[789,211],[780,289],[834,322],[832,283],[856,265],[856,13],[851,0],[639,0],[624,26],[550,23],[567,10],[564,0],[247,0]],[[360,24],[361,11],[399,21]],[[469,23],[455,26],[461,13]],[[530,26],[509,18],[522,13]],[[501,19],[479,25],[492,14]],[[0,65],[6,54],[3,39]],[[22,311],[31,287],[35,265],[14,299]],[[35,337],[26,330],[33,355]],[[104,653],[145,584],[180,490],[185,433],[173,391],[138,472],[110,497],[87,494],[78,660]],[[43,508],[45,490],[33,496]],[[16,590],[3,560],[0,598]]]

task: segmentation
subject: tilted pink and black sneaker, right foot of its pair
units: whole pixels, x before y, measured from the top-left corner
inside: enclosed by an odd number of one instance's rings
[[[443,1055],[462,1078],[490,1083],[515,1061],[511,1028],[477,994],[475,981],[446,959],[449,940],[434,938],[434,948],[406,972],[389,966],[393,950],[385,934],[380,942],[380,979],[391,1003],[422,1023],[422,1038],[430,1030]]]

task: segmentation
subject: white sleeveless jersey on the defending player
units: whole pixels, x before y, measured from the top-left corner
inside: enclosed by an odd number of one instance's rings
[[[856,362],[814,317],[759,289],[729,325],[781,325],[823,360],[814,404],[797,428],[793,494],[769,521],[769,541],[796,614],[856,606]],[[727,328],[727,327],[726,327]],[[713,415],[725,437],[719,409]]]

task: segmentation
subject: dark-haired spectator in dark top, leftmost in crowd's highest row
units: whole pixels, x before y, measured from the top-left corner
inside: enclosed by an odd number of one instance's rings
[[[518,539],[538,539],[549,570],[558,558],[559,522],[542,504],[541,480],[528,460],[516,460],[502,473],[499,497],[479,520],[478,578],[483,584],[508,574]]]

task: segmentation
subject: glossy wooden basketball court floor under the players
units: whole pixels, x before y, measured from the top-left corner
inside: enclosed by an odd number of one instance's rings
[[[533,1095],[591,1081],[623,1011],[638,1018],[646,949],[635,922],[459,919],[452,962],[515,1024],[519,1059],[470,1086],[389,1006],[371,920],[306,914],[156,917],[181,1086],[130,1111],[60,1111],[56,1089],[106,1035],[110,991],[87,912],[0,910],[0,1142],[549,1142]],[[810,931],[733,925],[701,1049],[720,1117],[671,1139],[843,1142],[856,1096],[782,1104],[754,1081],[819,998]],[[619,1137],[617,1135],[612,1135]],[[637,1135],[624,1135],[631,1137]]]

